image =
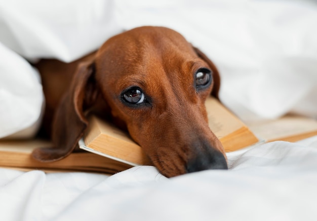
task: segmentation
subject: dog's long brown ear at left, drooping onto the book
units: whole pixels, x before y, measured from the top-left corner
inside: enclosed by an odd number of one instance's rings
[[[68,156],[78,145],[87,128],[85,108],[92,105],[96,97],[94,64],[81,63],[70,88],[57,107],[52,128],[53,148],[35,149],[32,157],[41,162],[52,162]]]

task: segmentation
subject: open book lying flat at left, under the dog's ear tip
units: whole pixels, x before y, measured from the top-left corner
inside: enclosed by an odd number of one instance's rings
[[[86,151],[72,153],[68,157],[52,162],[41,163],[31,157],[38,147],[50,147],[52,144],[45,140],[0,141],[0,167],[19,170],[39,169],[46,172],[57,171],[87,171],[113,174],[131,168],[131,165],[105,158]]]

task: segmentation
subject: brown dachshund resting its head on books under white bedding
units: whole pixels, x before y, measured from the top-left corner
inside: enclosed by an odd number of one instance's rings
[[[205,108],[209,94],[218,97],[218,71],[178,32],[135,28],[113,36],[82,60],[86,61],[77,71],[72,69],[78,61],[53,70],[53,78],[65,76],[63,82],[55,81],[61,88],[48,87],[54,84],[52,75],[41,71],[45,62],[38,64],[47,113],[56,108],[55,148],[35,150],[35,159],[50,162],[69,155],[88,125],[87,115],[96,114],[111,116],[128,129],[153,165],[168,177],[227,168],[224,149],[208,126]]]

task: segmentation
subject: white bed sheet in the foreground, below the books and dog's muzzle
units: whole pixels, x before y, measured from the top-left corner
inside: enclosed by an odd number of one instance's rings
[[[166,178],[0,169],[0,220],[316,220],[317,136],[228,154],[230,169]]]

